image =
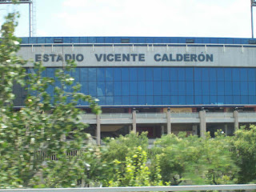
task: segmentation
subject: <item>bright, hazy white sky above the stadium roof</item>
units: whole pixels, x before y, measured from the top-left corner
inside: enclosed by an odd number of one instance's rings
[[[38,37],[251,37],[250,0],[36,0],[35,3]],[[21,14],[16,35],[28,37],[28,4],[0,5],[0,24],[12,11]]]

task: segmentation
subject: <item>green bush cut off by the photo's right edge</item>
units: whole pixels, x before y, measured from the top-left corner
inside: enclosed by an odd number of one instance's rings
[[[239,166],[238,183],[249,183],[256,179],[256,126],[242,126],[232,138],[234,160]]]

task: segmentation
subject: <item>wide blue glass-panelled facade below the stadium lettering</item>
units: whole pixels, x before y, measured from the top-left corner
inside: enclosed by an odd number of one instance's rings
[[[46,76],[54,77],[55,69],[47,68]],[[101,106],[256,104],[256,68],[80,67],[71,75]],[[53,94],[54,87],[48,91]]]

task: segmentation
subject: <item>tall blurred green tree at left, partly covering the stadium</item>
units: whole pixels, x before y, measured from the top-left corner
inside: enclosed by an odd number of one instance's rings
[[[95,113],[100,109],[93,98],[78,92],[79,85],[73,85],[74,78],[66,73],[74,69],[72,61],[56,71],[55,79],[42,77],[42,63],[34,63],[32,73],[26,73],[26,61],[16,56],[15,17],[9,14],[1,30],[0,188],[74,186],[86,179],[86,162],[82,155],[70,158],[66,154],[90,150],[86,125],[79,122],[82,111],[76,106],[84,100]],[[18,111],[13,109],[14,83],[28,91],[26,106]],[[47,92],[50,86],[54,95]],[[58,161],[47,158],[52,154]]]

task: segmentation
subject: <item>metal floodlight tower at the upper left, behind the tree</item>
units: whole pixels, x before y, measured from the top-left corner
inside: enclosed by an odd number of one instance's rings
[[[27,3],[29,4],[29,31],[30,31],[30,37],[35,36],[35,0],[18,0],[18,3],[24,4]],[[0,4],[13,4],[12,0],[0,0]]]

